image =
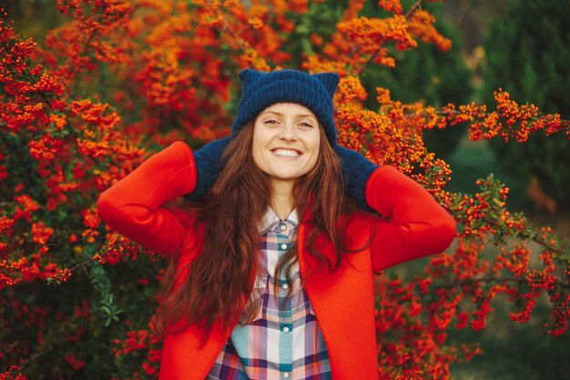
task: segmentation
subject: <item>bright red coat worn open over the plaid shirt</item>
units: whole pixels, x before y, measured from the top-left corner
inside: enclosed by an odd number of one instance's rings
[[[133,241],[166,254],[181,250],[178,271],[200,252],[201,228],[192,227],[187,213],[161,207],[196,186],[196,170],[188,145],[175,142],[101,194],[101,218]],[[334,380],[375,379],[378,376],[374,321],[374,272],[401,262],[443,252],[453,241],[453,218],[418,183],[388,165],[376,169],[366,184],[366,201],[390,220],[357,213],[350,217],[347,241],[368,248],[343,256],[330,272],[306,252],[310,218],[298,231],[300,275],[315,265],[305,288],[321,326]],[[198,244],[195,244],[198,242]],[[331,244],[322,251],[334,262]],[[187,274],[188,275],[188,274]],[[184,275],[181,276],[184,279]],[[229,339],[214,324],[207,343],[198,348],[201,331],[190,325],[164,341],[161,379],[203,380]]]

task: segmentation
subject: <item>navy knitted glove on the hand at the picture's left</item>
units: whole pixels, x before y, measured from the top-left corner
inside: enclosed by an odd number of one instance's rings
[[[221,170],[221,154],[231,140],[231,136],[214,140],[194,152],[196,162],[196,189],[184,196],[188,200],[201,200],[208,194],[212,183]]]

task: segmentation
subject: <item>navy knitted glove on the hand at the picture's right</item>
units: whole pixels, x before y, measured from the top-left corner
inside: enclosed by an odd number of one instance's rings
[[[362,156],[359,152],[346,149],[337,144],[334,151],[341,158],[342,176],[344,177],[344,193],[356,200],[358,206],[364,211],[373,210],[366,204],[364,190],[366,181],[378,165]]]

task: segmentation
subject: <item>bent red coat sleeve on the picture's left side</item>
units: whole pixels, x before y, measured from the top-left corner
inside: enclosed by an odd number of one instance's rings
[[[99,216],[113,230],[161,253],[181,249],[191,226],[186,211],[165,207],[196,187],[192,150],[177,141],[104,191]]]

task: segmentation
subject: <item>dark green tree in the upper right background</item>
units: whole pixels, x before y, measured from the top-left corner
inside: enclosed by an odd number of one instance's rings
[[[483,44],[483,102],[492,101],[502,87],[514,100],[534,103],[547,111],[570,115],[570,2],[568,0],[513,2],[504,17],[494,21]],[[569,211],[570,148],[565,139],[534,134],[525,143],[490,141],[506,171],[535,183],[555,200],[556,211]]]

